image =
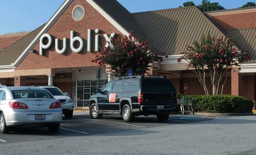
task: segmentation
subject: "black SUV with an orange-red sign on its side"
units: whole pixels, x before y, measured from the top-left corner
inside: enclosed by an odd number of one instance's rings
[[[94,119],[121,114],[126,122],[139,115],[157,115],[166,121],[169,114],[178,112],[176,90],[164,76],[118,77],[91,96],[89,112]]]

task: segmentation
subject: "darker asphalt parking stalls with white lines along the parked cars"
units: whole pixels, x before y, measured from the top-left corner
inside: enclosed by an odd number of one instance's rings
[[[0,145],[6,143],[46,141],[71,136],[93,136],[96,134],[115,133],[121,131],[141,130],[154,127],[175,126],[191,122],[227,118],[195,115],[170,115],[167,122],[159,122],[156,116],[139,116],[134,122],[125,122],[119,115],[103,115],[102,119],[92,119],[87,112],[75,112],[73,118],[63,118],[57,133],[50,133],[48,128],[17,128],[10,134],[0,133]]]

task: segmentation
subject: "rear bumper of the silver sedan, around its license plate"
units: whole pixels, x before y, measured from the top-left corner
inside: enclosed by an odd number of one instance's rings
[[[46,118],[35,119],[36,114],[44,114]],[[7,126],[36,125],[62,122],[61,108],[46,112],[10,111],[8,113],[5,113],[4,115]]]

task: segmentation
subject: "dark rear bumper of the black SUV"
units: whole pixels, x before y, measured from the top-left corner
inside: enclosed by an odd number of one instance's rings
[[[162,105],[163,109],[157,109],[159,105],[141,105],[140,112],[142,114],[159,114],[159,113],[169,113],[169,114],[176,114],[178,113],[178,104],[171,104],[171,105]]]

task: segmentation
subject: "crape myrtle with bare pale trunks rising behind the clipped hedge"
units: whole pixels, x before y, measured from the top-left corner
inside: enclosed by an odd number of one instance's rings
[[[247,53],[247,51],[237,51],[229,37],[215,38],[207,34],[202,35],[199,42],[194,41],[192,46],[187,46],[187,50],[182,53],[184,55],[177,61],[180,63],[181,59],[186,59],[188,68],[194,69],[206,95],[209,95],[209,91],[205,79],[206,73],[209,73],[213,95],[218,95],[219,92],[220,94],[223,92],[228,69],[248,59]]]

